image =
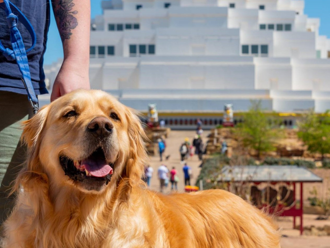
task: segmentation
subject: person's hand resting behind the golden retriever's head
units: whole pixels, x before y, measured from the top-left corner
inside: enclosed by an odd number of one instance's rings
[[[1,1],[1,0],[0,0]],[[87,66],[86,66],[87,65]],[[80,60],[65,60],[54,81],[50,101],[77,89],[90,89],[89,64]]]

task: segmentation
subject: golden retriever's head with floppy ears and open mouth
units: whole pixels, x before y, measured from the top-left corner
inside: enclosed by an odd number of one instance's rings
[[[24,123],[22,137],[28,145],[23,183],[44,175],[97,193],[121,178],[139,181],[147,158],[137,115],[97,90],[78,90],[45,106]]]

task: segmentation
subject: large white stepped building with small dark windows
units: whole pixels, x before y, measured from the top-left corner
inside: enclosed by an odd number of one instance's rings
[[[325,1],[326,2],[326,1]],[[324,3],[330,6],[329,3]],[[91,21],[90,81],[160,113],[330,109],[330,40],[301,0],[110,0]],[[50,86],[61,61],[45,66]]]

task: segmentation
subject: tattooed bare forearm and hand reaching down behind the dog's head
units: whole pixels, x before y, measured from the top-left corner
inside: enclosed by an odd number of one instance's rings
[[[90,0],[52,0],[64,60],[50,100],[89,86]]]

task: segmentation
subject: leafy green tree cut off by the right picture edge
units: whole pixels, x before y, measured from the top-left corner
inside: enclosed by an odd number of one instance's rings
[[[312,153],[324,154],[330,152],[330,116],[329,111],[318,115],[311,110],[298,123],[298,137],[308,146]]]

